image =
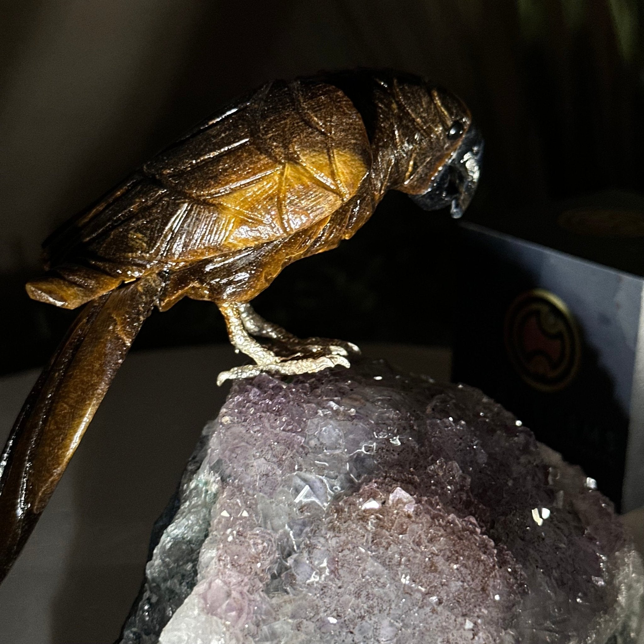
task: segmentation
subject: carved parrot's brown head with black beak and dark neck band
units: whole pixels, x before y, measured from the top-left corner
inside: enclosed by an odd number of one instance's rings
[[[398,70],[359,69],[323,74],[340,88],[365,122],[381,167],[392,162],[384,194],[408,194],[424,210],[450,207],[460,217],[475,193],[483,139],[467,106],[421,76]],[[391,180],[391,182],[389,182]]]

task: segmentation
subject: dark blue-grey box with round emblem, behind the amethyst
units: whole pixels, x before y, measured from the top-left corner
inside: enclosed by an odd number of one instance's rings
[[[644,506],[644,198],[602,193],[460,223],[453,380]]]

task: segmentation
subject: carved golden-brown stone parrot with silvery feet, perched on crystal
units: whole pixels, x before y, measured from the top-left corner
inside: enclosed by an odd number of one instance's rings
[[[153,307],[184,296],[216,303],[232,344],[256,363],[220,383],[349,366],[354,345],[298,339],[249,302],[292,261],[353,236],[390,189],[460,216],[481,153],[466,106],[418,77],[363,70],[270,82],[55,231],[44,243],[48,272],[27,292],[84,308],[0,460],[0,580]]]

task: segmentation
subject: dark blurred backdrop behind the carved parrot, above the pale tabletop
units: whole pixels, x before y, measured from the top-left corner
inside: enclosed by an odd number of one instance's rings
[[[473,212],[641,190],[643,32],[637,0],[3,3],[0,373],[42,364],[74,315],[24,293],[44,237],[276,77],[389,66],[450,87],[486,137]],[[289,267],[257,308],[303,336],[449,345],[454,238],[447,213],[391,193],[353,240]],[[136,346],[224,339],[216,307],[185,299]]]

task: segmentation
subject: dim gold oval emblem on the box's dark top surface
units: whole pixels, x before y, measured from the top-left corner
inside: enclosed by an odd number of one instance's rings
[[[644,237],[644,214],[632,210],[574,208],[560,214],[558,223],[578,235]]]

